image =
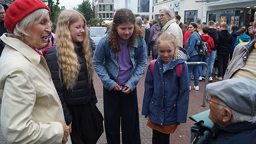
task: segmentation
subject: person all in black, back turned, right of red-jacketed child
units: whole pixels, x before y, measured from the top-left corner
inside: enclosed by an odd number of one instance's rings
[[[219,29],[219,45],[218,45],[218,75],[215,77],[216,79],[222,80],[228,64],[228,59],[230,55],[230,45],[232,44],[231,34],[228,33],[227,24],[221,24],[221,29]]]

